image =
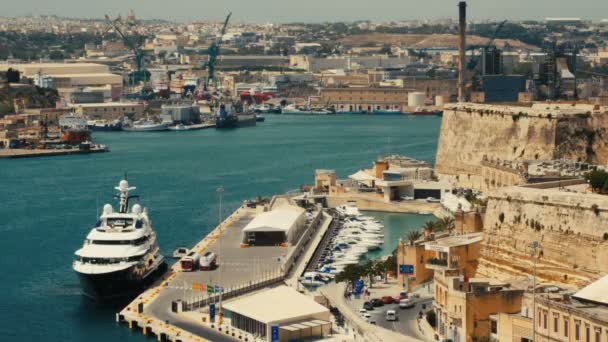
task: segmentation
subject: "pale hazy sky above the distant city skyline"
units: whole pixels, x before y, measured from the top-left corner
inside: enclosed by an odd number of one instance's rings
[[[241,22],[400,20],[456,17],[457,0],[0,0],[0,16],[102,18],[134,9],[139,18]],[[473,19],[608,18],[608,0],[469,0]]]

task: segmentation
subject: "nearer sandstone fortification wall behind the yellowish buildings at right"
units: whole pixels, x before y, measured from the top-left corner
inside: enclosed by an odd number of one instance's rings
[[[583,286],[608,273],[608,196],[511,187],[489,195],[478,273],[506,279],[532,274]]]

